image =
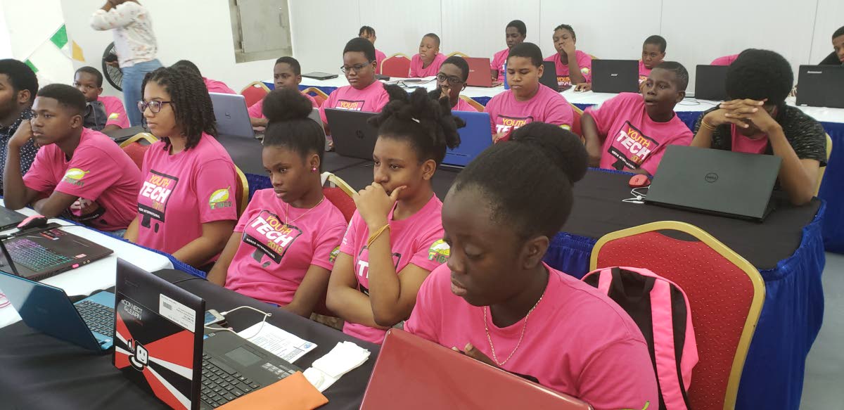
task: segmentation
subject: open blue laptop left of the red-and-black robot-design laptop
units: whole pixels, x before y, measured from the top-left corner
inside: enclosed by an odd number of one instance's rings
[[[0,289],[26,326],[95,352],[111,348],[114,335],[111,292],[100,292],[74,304],[62,289],[9,272],[0,272]]]

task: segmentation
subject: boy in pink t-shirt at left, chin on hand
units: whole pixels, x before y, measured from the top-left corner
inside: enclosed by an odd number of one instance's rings
[[[3,173],[5,205],[33,208],[47,218],[64,216],[96,229],[126,229],[134,218],[140,172],[132,159],[100,132],[83,127],[85,97],[66,84],[40,89],[32,120],[8,142]],[[41,148],[21,177],[20,148],[32,139]]]

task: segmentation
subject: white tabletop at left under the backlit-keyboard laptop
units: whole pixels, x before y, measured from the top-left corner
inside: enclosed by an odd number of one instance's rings
[[[19,209],[18,212],[27,216],[35,215],[35,211],[30,208]],[[54,277],[41,281],[42,283],[64,289],[68,295],[90,294],[95,290],[108,289],[114,286],[118,257],[146,271],[157,271],[159,269],[173,267],[170,259],[166,256],[153,251],[147,251],[125,240],[119,240],[113,236],[105,235],[98,230],[73,224],[63,219],[54,218],[50,219],[50,222],[61,224],[63,225],[62,229],[67,230],[73,235],[79,235],[87,240],[92,240],[114,251],[113,254],[99,261],[91,262],[83,267],[62,272]],[[9,229],[3,233],[5,234],[11,231],[14,231],[14,229]],[[0,327],[8,326],[16,321],[20,321],[20,316],[12,305],[0,308]]]

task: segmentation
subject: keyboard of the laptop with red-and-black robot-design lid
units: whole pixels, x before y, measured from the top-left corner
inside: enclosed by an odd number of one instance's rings
[[[229,365],[203,353],[203,386],[199,393],[206,406],[220,407],[261,387]]]

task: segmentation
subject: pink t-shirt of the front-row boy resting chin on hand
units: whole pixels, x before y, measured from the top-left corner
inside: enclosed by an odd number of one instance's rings
[[[37,192],[57,191],[79,197],[80,202],[96,202],[83,203],[83,209],[71,207],[71,213],[84,224],[112,231],[126,229],[135,218],[141,172],[111,138],[83,128],[70,160],[54,143],[41,147],[24,175],[24,185]],[[85,216],[81,216],[83,210]]]

